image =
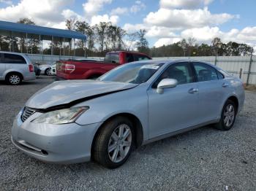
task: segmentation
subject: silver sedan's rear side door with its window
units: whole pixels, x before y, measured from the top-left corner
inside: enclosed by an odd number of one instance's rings
[[[227,93],[228,84],[224,76],[206,63],[193,62],[197,77],[198,96],[200,102],[197,112],[201,122],[216,120],[222,109],[222,103]]]

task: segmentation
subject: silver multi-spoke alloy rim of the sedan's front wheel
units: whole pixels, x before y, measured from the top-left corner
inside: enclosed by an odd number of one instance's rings
[[[108,156],[113,163],[118,163],[127,156],[132,144],[131,128],[126,124],[118,125],[108,142]]]

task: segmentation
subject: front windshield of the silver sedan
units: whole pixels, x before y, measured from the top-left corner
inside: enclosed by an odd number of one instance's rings
[[[124,66],[119,66],[116,69],[109,71],[102,77],[101,81],[111,82],[127,82],[132,84],[141,84],[148,81],[153,74],[164,63],[132,63]]]

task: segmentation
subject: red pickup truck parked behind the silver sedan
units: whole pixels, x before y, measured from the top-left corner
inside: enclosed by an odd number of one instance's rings
[[[140,52],[108,52],[104,61],[93,59],[59,61],[56,65],[56,75],[61,79],[94,79],[121,64],[149,59],[151,58],[148,55]]]

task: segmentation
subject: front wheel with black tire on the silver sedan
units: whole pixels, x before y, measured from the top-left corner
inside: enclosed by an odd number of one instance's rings
[[[94,160],[107,168],[118,168],[124,164],[134,146],[132,126],[126,117],[116,117],[106,122],[94,141]]]

